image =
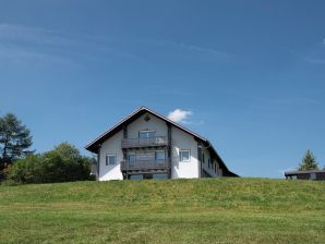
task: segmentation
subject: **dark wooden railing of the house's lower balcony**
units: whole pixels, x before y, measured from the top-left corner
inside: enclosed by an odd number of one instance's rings
[[[168,169],[167,159],[153,159],[153,160],[135,160],[135,161],[121,161],[121,171],[125,170],[166,170]]]

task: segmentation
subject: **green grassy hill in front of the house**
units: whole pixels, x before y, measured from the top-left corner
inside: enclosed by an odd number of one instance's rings
[[[324,243],[325,182],[0,186],[0,243]]]

